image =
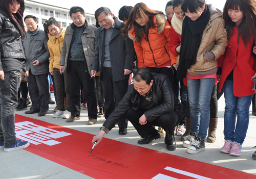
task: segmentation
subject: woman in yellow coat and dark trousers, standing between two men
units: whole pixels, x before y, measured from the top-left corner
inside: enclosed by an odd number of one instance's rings
[[[57,96],[57,112],[53,114],[54,118],[68,119],[71,116],[70,113],[70,96],[68,86],[68,76],[64,73],[59,73],[59,61],[61,54],[61,47],[63,38],[65,36],[65,29],[60,29],[60,25],[56,20],[48,20],[46,24],[46,30],[49,36],[48,48],[50,51],[50,64],[49,71],[54,77],[54,83],[56,87]],[[66,92],[66,109],[64,107],[64,96]]]

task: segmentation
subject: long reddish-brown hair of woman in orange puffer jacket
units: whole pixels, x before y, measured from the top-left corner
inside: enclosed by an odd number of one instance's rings
[[[127,19],[127,22],[122,30],[123,37],[126,37],[129,30],[131,30],[132,27],[134,26],[136,42],[141,42],[144,34],[145,34],[144,39],[147,41],[149,28],[157,28],[158,27],[157,24],[154,24],[154,22],[153,22],[153,16],[155,16],[157,14],[163,14],[163,13],[161,11],[151,10],[144,3],[136,4],[133,7],[132,12],[129,15],[129,18]],[[148,16],[148,18],[147,18],[147,16]],[[136,17],[148,19],[147,24],[144,26],[141,26],[140,24],[138,24],[135,21]],[[145,26],[148,28],[145,28]]]

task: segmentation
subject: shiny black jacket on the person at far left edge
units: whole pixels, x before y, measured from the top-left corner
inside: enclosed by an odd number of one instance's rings
[[[0,70],[3,70],[2,58],[25,59],[23,39],[13,23],[0,8]]]

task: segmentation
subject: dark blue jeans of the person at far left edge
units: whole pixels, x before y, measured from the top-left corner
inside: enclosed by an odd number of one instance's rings
[[[0,80],[0,142],[5,141],[5,147],[16,143],[14,118],[20,77],[19,70],[13,70],[5,72],[5,80]]]

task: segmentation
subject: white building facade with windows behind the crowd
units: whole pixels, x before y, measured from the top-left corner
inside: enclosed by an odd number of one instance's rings
[[[30,0],[25,0],[25,11],[24,17],[26,15],[33,15],[37,18],[38,26],[43,30],[43,25],[46,20],[50,17],[54,17],[60,24],[60,27],[67,28],[68,25],[72,23],[72,19],[69,15],[68,8],[53,6],[51,4],[45,4],[41,2],[35,2]],[[94,14],[86,13],[86,19],[90,24],[95,24],[96,19]]]

